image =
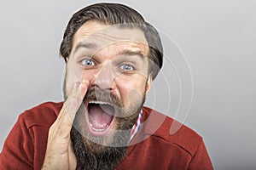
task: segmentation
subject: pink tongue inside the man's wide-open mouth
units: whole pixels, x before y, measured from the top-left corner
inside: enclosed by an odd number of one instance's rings
[[[89,116],[90,123],[93,127],[97,129],[107,127],[111,123],[113,118],[113,116],[108,115],[108,113],[105,112],[105,109],[102,110],[102,107],[100,105],[90,105]]]

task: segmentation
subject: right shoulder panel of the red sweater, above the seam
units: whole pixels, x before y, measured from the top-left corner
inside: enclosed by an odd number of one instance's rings
[[[145,114],[144,114],[145,113]],[[165,143],[176,145],[182,150],[194,156],[203,142],[198,133],[158,111],[148,107],[143,108],[143,122],[146,133],[150,133],[152,138],[164,140]]]

